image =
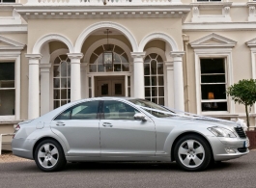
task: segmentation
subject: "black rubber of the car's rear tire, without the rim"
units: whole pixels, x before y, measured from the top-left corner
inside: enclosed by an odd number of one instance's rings
[[[52,168],[46,169],[43,168],[43,166],[40,164],[39,159],[38,159],[38,153],[39,153],[39,149],[44,145],[44,144],[51,144],[53,146],[55,146],[58,149],[59,152],[59,158],[58,161],[56,163],[56,165],[54,165]],[[39,169],[41,169],[43,172],[56,172],[61,170],[65,164],[67,163],[64,152],[63,152],[63,148],[60,146],[60,144],[54,140],[51,139],[47,139],[47,140],[43,140],[35,149],[35,153],[34,153],[34,159],[35,162],[37,164],[37,166],[39,167]]]

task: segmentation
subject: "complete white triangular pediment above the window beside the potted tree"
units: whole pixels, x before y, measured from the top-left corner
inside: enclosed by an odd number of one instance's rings
[[[216,48],[216,47],[234,47],[237,41],[230,40],[217,34],[210,34],[199,40],[190,42],[193,48]]]

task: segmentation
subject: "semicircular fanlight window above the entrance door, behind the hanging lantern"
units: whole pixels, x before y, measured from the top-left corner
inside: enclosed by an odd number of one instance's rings
[[[111,50],[108,50],[111,49]],[[113,67],[104,67],[102,64],[103,51],[112,51],[114,56]],[[118,45],[100,45],[90,58],[90,72],[129,71],[128,55]]]

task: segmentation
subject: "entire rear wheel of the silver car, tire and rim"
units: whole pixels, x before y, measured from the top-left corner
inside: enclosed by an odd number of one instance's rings
[[[43,172],[56,172],[63,169],[67,163],[60,144],[54,140],[44,140],[36,148],[34,158]]]

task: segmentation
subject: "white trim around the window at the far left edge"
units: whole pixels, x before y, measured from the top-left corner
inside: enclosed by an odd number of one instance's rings
[[[14,61],[15,71],[15,114],[14,116],[0,116],[0,121],[20,120],[20,51],[1,51],[0,61]]]

